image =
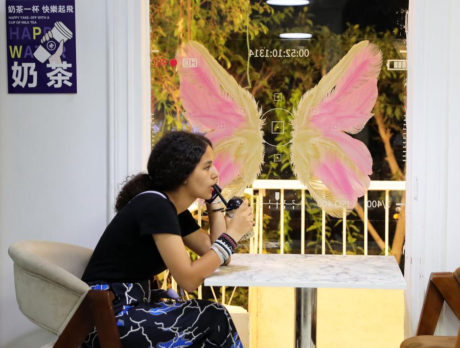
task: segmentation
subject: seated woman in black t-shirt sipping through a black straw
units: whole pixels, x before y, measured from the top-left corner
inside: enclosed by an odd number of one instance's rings
[[[223,263],[253,226],[247,200],[232,219],[219,199],[206,204],[210,234],[187,208],[210,199],[219,173],[208,138],[171,132],[154,146],[147,174],[122,188],[117,215],[107,226],[83,273],[93,289],[115,295],[114,312],[123,347],[242,347],[234,323],[220,304],[200,299],[162,301],[150,291],[155,274],[169,269],[179,287],[193,291]],[[192,262],[185,247],[201,256]],[[163,296],[164,297],[164,296]],[[99,347],[96,329],[84,347]]]

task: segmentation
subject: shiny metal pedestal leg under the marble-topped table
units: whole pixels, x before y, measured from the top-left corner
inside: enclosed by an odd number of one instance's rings
[[[316,288],[295,288],[295,348],[316,348]]]

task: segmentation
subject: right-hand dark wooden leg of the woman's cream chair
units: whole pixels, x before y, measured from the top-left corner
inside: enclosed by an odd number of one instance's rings
[[[113,313],[113,293],[111,291],[89,290],[91,314],[98,331],[102,348],[122,348],[120,333]]]

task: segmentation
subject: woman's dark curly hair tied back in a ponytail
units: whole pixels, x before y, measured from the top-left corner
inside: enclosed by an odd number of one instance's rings
[[[147,174],[126,178],[115,203],[119,212],[136,195],[149,190],[177,189],[199,163],[211,141],[201,134],[186,131],[166,133],[155,144],[147,163]]]

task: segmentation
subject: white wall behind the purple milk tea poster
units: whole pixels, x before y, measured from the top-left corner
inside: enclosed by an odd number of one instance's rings
[[[18,310],[8,246],[21,239],[93,248],[117,183],[149,150],[148,1],[76,1],[78,93],[9,95],[0,2],[0,347],[53,336]],[[39,300],[37,298],[37,300]]]

